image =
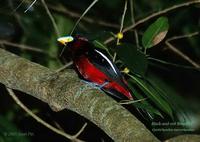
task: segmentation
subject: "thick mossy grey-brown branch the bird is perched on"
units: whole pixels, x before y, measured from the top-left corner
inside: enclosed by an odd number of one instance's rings
[[[54,71],[0,49],[0,83],[44,101],[53,110],[70,109],[95,123],[115,141],[158,141],[131,113],[68,70]]]

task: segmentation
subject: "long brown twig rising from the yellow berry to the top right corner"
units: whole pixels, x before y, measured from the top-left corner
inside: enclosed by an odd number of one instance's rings
[[[170,11],[173,11],[173,10],[176,10],[176,9],[179,9],[179,8],[182,8],[182,7],[188,7],[188,6],[191,6],[193,4],[198,4],[198,3],[200,3],[200,0],[194,0],[194,1],[189,1],[189,2],[185,2],[185,3],[177,4],[177,5],[171,6],[169,8],[163,9],[163,10],[161,10],[159,12],[153,13],[153,14],[151,14],[151,15],[149,15],[149,16],[147,16],[147,17],[145,17],[145,18],[143,18],[143,19],[141,19],[139,21],[137,21],[135,24],[132,24],[132,25],[126,27],[122,32],[125,33],[127,31],[130,31],[130,30],[136,28],[137,26],[139,26],[140,24],[145,23],[148,20],[150,20],[152,18],[155,18],[157,16],[166,14],[166,13],[168,13]],[[114,37],[110,37],[107,40],[105,40],[104,43],[108,44],[111,41],[113,41],[114,39],[115,39]]]

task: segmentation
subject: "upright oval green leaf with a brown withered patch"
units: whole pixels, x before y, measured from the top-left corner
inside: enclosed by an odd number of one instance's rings
[[[160,43],[166,36],[169,29],[168,19],[166,17],[158,18],[144,32],[142,45],[145,49],[151,48]]]

